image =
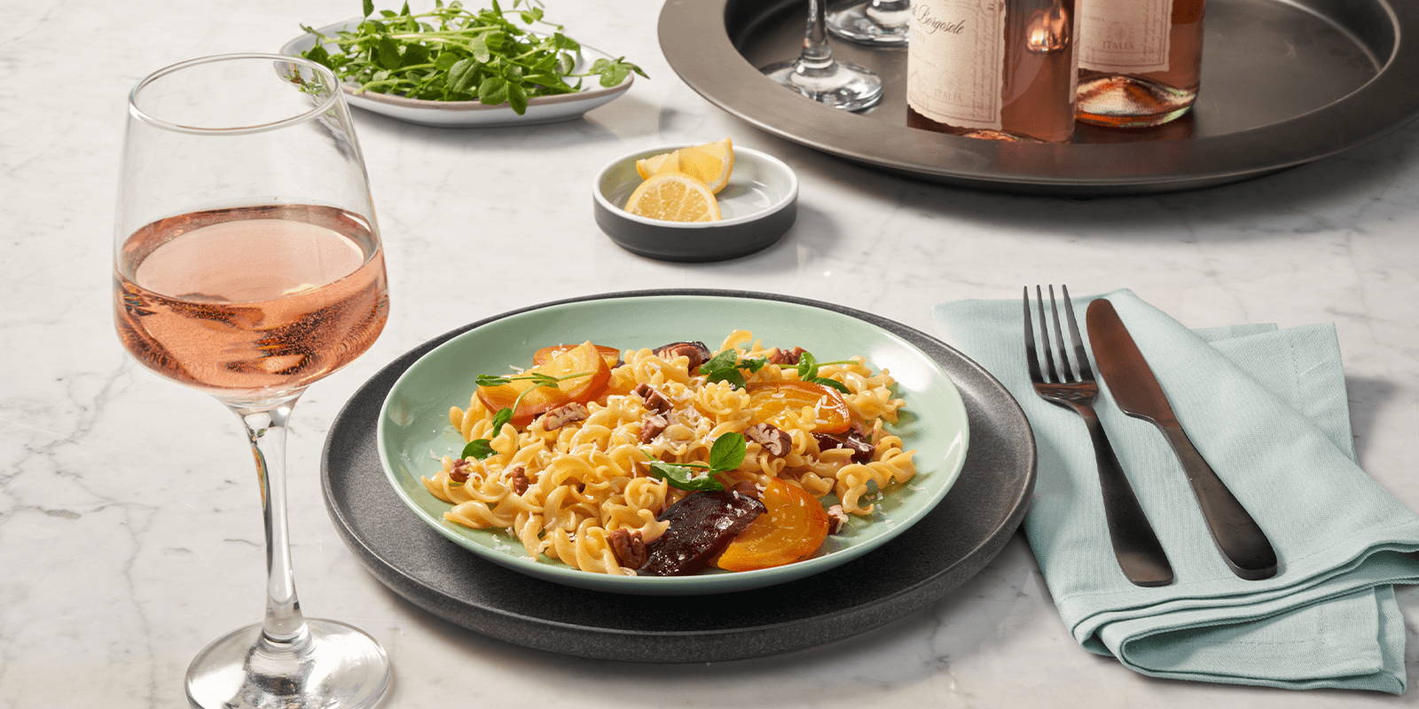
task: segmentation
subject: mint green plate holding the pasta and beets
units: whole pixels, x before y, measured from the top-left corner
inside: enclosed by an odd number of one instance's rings
[[[698,576],[609,576],[529,559],[504,530],[444,522],[451,505],[429,493],[420,476],[464,441],[448,425],[448,407],[467,406],[480,373],[502,373],[531,362],[545,345],[593,340],[634,349],[704,340],[717,347],[735,329],[753,330],[768,346],[805,347],[819,359],[863,354],[897,380],[907,414],[893,431],[917,450],[917,476],[893,486],[867,518],[853,518],[819,556],[755,571],[711,570]],[[966,411],[951,377],[920,349],[876,325],[807,305],[756,298],[650,295],[551,305],[471,329],[414,362],[390,389],[379,413],[380,462],[400,499],[440,535],[492,563],[553,583],[610,593],[680,596],[742,591],[792,581],[857,559],[890,542],[931,512],[951,489],[966,457]]]

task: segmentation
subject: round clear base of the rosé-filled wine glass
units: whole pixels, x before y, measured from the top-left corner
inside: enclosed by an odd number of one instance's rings
[[[261,640],[261,625],[217,638],[187,666],[187,700],[201,709],[365,709],[389,688],[389,657],[343,623],[308,618],[291,647]]]

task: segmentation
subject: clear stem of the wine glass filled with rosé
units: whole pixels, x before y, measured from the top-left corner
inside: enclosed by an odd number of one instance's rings
[[[261,513],[267,535],[267,611],[261,638],[271,649],[298,651],[308,638],[301,601],[295,596],[291,542],[285,518],[285,424],[295,398],[251,408],[230,404],[245,424],[261,482]]]

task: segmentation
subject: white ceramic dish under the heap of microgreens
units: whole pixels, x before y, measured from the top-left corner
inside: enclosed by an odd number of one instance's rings
[[[335,33],[343,30],[352,30],[360,23],[359,18],[345,20],[343,23],[333,23],[325,27],[318,27],[321,34],[333,35]],[[301,52],[309,50],[315,45],[315,37],[311,34],[301,34],[299,37],[285,43],[281,47],[281,54],[288,57],[299,57]],[[329,47],[328,47],[329,48]],[[575,71],[586,71],[590,64],[599,58],[614,60],[612,57],[595,47],[582,45],[582,58],[576,62]],[[362,108],[365,111],[372,111],[375,113],[386,115],[399,121],[407,121],[410,123],[420,123],[426,126],[446,126],[446,128],[492,128],[492,126],[525,126],[536,123],[555,123],[558,121],[570,121],[573,118],[582,118],[587,111],[600,106],[616,96],[620,96],[630,88],[634,81],[634,74],[627,74],[626,81],[606,88],[596,82],[595,77],[589,77],[586,91],[576,94],[562,94],[558,96],[536,96],[528,99],[526,113],[521,116],[517,115],[511,106],[507,104],[488,106],[477,101],[426,101],[417,98],[394,96],[390,94],[376,94],[365,92],[355,94],[355,88],[350,84],[345,85],[345,98],[349,105]]]

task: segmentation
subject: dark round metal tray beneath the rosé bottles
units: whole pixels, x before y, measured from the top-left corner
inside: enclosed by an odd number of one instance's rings
[[[1209,0],[1195,109],[1155,129],[1078,125],[1071,143],[1002,143],[907,128],[904,50],[833,40],[885,79],[861,113],[813,104],[755,67],[792,58],[802,0],[667,0],[660,45],[702,96],[769,133],[932,182],[1044,194],[1172,191],[1256,177],[1355,147],[1419,116],[1419,3]]]

